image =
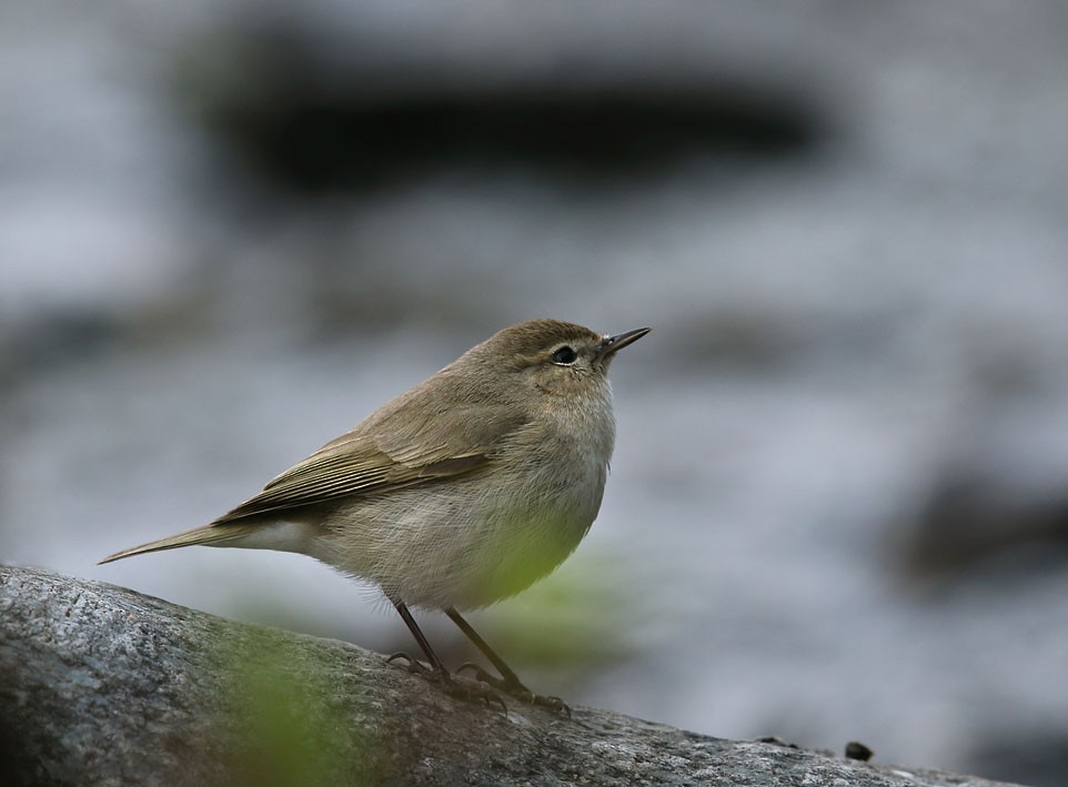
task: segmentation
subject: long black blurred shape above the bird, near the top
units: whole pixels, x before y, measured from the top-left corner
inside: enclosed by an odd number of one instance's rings
[[[322,49],[314,33],[271,27],[194,42],[180,93],[239,161],[302,194],[383,188],[456,165],[614,181],[689,157],[796,155],[822,133],[805,101],[756,79],[576,84],[557,71],[510,79],[487,62],[485,79],[450,81],[405,73],[400,62],[340,63]]]

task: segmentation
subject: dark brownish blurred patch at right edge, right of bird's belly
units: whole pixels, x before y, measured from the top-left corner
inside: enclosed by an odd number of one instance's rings
[[[1007,581],[1068,564],[1068,490],[1028,494],[966,472],[933,488],[901,552],[917,579],[948,579],[984,569]]]

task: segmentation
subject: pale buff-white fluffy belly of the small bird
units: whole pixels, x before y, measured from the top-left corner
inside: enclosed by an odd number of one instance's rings
[[[472,609],[525,589],[566,558],[601,507],[606,467],[560,484],[473,477],[339,507],[313,556],[377,584],[394,602]],[[513,490],[512,494],[502,490]]]

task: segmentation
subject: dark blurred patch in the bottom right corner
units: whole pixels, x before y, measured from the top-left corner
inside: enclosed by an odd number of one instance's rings
[[[1055,728],[995,733],[976,743],[969,767],[989,779],[1064,787],[1068,785],[1068,736]]]

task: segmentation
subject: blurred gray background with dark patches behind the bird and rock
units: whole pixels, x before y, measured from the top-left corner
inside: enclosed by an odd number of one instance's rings
[[[1068,783],[1068,7],[0,8],[0,559],[411,649],[212,519],[504,325],[652,325],[536,690]],[[424,614],[452,663],[462,637]]]

